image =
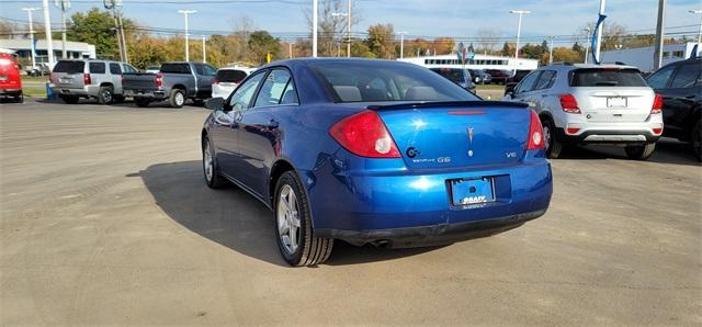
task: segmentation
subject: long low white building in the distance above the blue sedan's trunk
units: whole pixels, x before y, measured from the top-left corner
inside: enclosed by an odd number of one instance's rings
[[[408,57],[397,59],[400,61],[412,63],[427,68],[462,68],[464,67],[458,60],[456,54],[441,55],[441,56],[426,56],[426,57]],[[529,69],[533,70],[539,68],[539,60],[524,59],[514,57],[501,57],[501,56],[488,56],[475,54],[472,59],[467,59],[465,63],[467,69],[502,69],[502,70],[516,70],[516,69]]]

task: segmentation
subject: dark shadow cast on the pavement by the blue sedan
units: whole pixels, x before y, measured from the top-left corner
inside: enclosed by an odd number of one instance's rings
[[[138,174],[127,174],[137,176],[141,177],[161,210],[183,227],[245,256],[288,267],[278,249],[272,212],[239,188],[207,188],[200,161],[157,164]],[[359,248],[337,241],[330,259],[324,264],[393,260],[433,249],[437,247]]]

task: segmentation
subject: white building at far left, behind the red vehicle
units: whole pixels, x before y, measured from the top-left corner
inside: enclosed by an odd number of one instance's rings
[[[54,58],[63,59],[61,54],[64,45],[60,40],[54,40]],[[48,52],[46,50],[46,40],[36,42],[36,63],[48,63]],[[11,49],[18,54],[20,58],[32,58],[32,41],[29,38],[0,38],[0,48]],[[66,56],[72,59],[95,58],[95,46],[83,42],[66,42]]]

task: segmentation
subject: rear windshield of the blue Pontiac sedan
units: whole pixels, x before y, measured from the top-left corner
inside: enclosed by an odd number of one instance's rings
[[[431,70],[393,61],[317,61],[308,66],[335,102],[475,101]]]

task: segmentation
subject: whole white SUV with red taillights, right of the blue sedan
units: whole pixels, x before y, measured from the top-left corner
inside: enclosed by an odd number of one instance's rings
[[[539,113],[550,158],[567,145],[612,144],[645,160],[663,133],[663,99],[632,66],[541,67],[507,89],[505,100],[525,102]]]

